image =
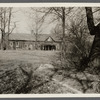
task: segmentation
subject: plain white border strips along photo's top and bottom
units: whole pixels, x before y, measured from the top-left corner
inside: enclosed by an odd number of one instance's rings
[[[0,7],[99,7],[100,3],[0,3]],[[0,98],[100,97],[100,94],[0,94]],[[99,100],[99,99],[98,99]]]

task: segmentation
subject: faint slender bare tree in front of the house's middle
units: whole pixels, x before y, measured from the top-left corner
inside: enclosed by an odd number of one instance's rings
[[[31,30],[31,34],[33,35],[33,37],[35,37],[35,49],[38,49],[38,38],[39,38],[39,34],[42,32],[42,25],[43,25],[43,20],[41,17],[41,13],[38,12],[39,8],[30,8],[31,9],[31,13],[29,14],[31,23],[29,25],[30,30]]]

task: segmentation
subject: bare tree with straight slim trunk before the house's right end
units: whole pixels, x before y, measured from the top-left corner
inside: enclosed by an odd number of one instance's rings
[[[53,18],[51,22],[58,21],[58,23],[61,23],[62,29],[61,29],[61,62],[63,63],[66,58],[66,41],[65,41],[65,34],[66,34],[66,17],[72,12],[73,7],[65,8],[65,7],[50,7],[46,8],[45,15],[43,18],[47,15],[52,15]]]

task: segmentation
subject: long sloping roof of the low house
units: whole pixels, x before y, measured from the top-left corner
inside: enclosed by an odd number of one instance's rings
[[[48,38],[52,38],[54,41],[59,39],[53,34],[38,34],[38,41],[46,41]],[[35,41],[35,35],[33,34],[10,34],[9,40],[23,40],[23,41]]]

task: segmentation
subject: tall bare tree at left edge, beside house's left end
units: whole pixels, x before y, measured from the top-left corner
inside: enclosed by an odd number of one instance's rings
[[[6,50],[9,48],[8,39],[9,35],[13,32],[16,27],[16,23],[12,27],[12,7],[1,7],[0,8],[0,24],[1,24],[1,49]]]

